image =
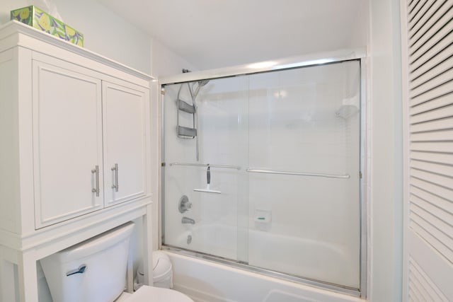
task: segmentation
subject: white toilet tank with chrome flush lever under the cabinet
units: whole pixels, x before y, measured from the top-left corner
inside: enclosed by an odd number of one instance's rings
[[[129,222],[40,260],[55,302],[110,302],[126,284]]]

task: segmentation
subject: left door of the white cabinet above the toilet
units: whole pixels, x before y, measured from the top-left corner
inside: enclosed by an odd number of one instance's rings
[[[33,61],[36,228],[103,207],[101,81],[72,66]]]

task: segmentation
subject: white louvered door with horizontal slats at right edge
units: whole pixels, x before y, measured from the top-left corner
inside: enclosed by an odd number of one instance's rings
[[[402,0],[404,301],[453,301],[453,0]]]

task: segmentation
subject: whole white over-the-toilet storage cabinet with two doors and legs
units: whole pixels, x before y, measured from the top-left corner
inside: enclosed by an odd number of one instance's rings
[[[150,255],[151,80],[16,21],[0,28],[0,302],[38,301],[37,260],[132,219]]]

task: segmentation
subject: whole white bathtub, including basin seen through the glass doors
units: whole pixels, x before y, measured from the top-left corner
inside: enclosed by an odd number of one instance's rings
[[[191,236],[189,241],[188,236]],[[236,228],[220,223],[200,223],[181,234],[178,246],[236,260],[237,236]],[[212,240],[205,240],[207,238]],[[336,245],[275,236],[258,230],[248,232],[248,242],[249,264],[254,267],[275,271],[281,269],[311,279],[327,279],[333,284],[340,284],[338,281],[348,279],[346,275],[350,274],[345,252]],[[333,290],[281,279],[278,274],[273,277],[253,272],[253,267],[251,270],[246,266],[243,266],[246,269],[241,269],[171,249],[165,252],[173,263],[175,289],[187,294],[195,302],[363,301],[350,295],[358,294],[355,291],[339,294]],[[314,255],[323,261],[313,261]],[[302,272],[298,270],[300,267],[303,268]],[[335,287],[331,286],[330,289]]]

